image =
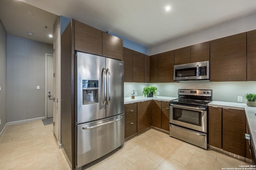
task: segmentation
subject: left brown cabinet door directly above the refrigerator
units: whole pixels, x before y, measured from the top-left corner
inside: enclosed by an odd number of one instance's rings
[[[74,20],[75,50],[102,55],[102,31]]]

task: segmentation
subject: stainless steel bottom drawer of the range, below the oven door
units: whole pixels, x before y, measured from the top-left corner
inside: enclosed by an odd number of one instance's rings
[[[207,149],[207,134],[170,124],[170,136]]]

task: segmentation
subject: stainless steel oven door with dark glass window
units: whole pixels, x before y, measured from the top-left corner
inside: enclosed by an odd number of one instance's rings
[[[170,123],[207,133],[207,109],[170,104]]]

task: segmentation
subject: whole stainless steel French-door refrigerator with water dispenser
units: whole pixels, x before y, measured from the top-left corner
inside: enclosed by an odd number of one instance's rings
[[[124,144],[124,63],[76,53],[76,169]]]

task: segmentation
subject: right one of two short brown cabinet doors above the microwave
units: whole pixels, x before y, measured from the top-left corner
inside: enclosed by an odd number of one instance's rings
[[[190,46],[190,63],[210,61],[210,41]]]

